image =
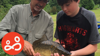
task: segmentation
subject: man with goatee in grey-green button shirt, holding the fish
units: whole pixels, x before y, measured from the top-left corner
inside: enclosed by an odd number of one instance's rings
[[[23,51],[15,56],[36,56],[32,43],[46,34],[53,38],[53,20],[42,10],[48,0],[31,0],[30,4],[13,6],[0,22],[0,39],[8,32],[17,32],[24,38]],[[10,38],[10,37],[9,37]]]

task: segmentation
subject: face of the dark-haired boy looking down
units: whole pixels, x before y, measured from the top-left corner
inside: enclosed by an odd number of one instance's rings
[[[65,3],[61,6],[62,10],[66,13],[67,16],[74,17],[79,12],[79,1],[71,1]]]

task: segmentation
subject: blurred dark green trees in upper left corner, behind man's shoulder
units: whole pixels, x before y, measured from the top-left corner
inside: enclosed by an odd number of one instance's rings
[[[29,2],[30,0],[0,0],[0,21],[13,5],[26,4]]]

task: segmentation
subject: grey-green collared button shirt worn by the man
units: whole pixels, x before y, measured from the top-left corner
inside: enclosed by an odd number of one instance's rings
[[[53,40],[53,20],[44,10],[33,17],[30,4],[15,5],[0,22],[0,39],[8,32],[17,32],[30,43],[44,34]],[[25,55],[20,53],[17,56]]]

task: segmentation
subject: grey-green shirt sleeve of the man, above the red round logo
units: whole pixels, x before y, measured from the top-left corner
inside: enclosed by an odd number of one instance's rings
[[[15,31],[15,27],[17,25],[15,20],[17,17],[16,15],[17,12],[15,11],[15,6],[14,6],[9,10],[7,15],[2,19],[2,21],[0,22],[0,39],[2,39],[3,36],[8,32]]]

